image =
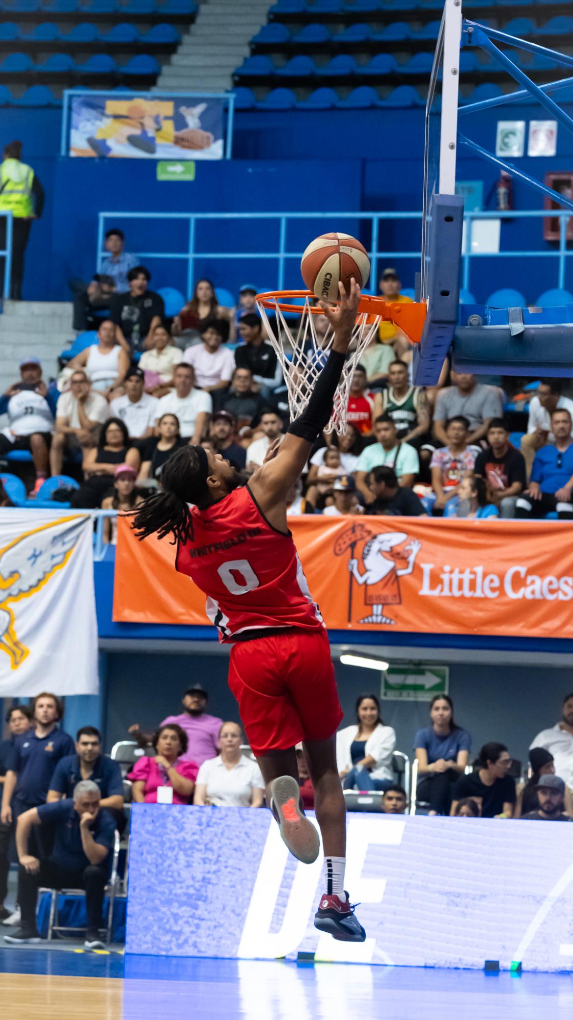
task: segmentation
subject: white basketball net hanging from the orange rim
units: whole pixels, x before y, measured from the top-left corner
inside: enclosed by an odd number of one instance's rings
[[[276,352],[282,369],[289,391],[291,418],[294,419],[308,404],[314,385],[326,362],[334,335],[329,324],[325,332],[322,330],[324,316],[311,312],[308,298],[305,298],[304,305],[301,305],[300,317],[289,313],[289,318],[285,318],[278,307],[279,303],[284,303],[284,299],[279,301],[276,298],[273,308],[268,309],[268,313],[261,302],[257,302],[257,307],[268,340]],[[324,429],[325,432],[335,431],[341,436],[347,430],[347,408],[354,370],[360,362],[363,351],[375,337],[380,320],[381,316],[367,315],[365,312],[359,314],[356,319],[349,355],[336,387],[332,414]],[[275,329],[272,327],[272,321]]]

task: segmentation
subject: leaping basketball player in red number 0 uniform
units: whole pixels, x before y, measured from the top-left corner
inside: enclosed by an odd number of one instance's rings
[[[364,928],[344,888],[345,800],[335,754],[343,712],[326,629],[287,523],[287,495],[328,422],[352,340],[360,289],[353,279],[350,294],[342,284],[340,293],[337,306],[321,302],[334,337],[308,405],[248,484],[220,454],[186,446],[165,463],[163,492],[135,513],[133,526],[140,540],[175,537],[175,569],[206,594],[220,641],[232,643],[229,687],[267,804],[291,853],[310,864],[319,840],[300,803],[295,748],[304,742],[326,883],[314,923],[334,938],[361,942]]]

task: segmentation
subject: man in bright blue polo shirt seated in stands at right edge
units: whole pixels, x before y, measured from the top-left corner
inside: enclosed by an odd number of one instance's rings
[[[515,516],[521,519],[544,517],[557,510],[560,520],[573,519],[573,437],[571,415],[565,409],[552,411],[555,444],[537,450],[528,488],[518,496]]]

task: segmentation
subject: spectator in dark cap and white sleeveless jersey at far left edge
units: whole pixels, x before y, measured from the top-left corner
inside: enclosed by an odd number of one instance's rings
[[[29,450],[36,469],[34,494],[48,477],[48,450],[54,425],[48,389],[42,379],[38,358],[20,361],[20,380],[0,398],[0,414],[8,415],[8,426],[0,432],[0,456],[13,450]]]

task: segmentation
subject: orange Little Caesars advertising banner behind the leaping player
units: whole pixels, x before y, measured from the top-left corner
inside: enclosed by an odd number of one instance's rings
[[[344,630],[573,638],[567,521],[292,518],[313,598]],[[205,596],[167,539],[118,522],[113,619],[206,624]]]

